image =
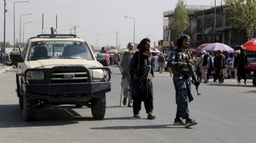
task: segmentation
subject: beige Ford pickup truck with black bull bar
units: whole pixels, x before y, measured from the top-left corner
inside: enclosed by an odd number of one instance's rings
[[[103,56],[104,57],[104,56]],[[41,34],[25,43],[16,64],[16,93],[26,121],[36,109],[71,104],[90,107],[94,119],[103,119],[106,92],[111,90],[110,69],[102,66],[86,40],[69,34]]]

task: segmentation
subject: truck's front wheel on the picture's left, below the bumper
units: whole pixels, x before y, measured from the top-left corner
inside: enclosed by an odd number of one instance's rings
[[[35,101],[30,99],[29,96],[23,92],[23,118],[25,121],[35,120],[36,111]]]

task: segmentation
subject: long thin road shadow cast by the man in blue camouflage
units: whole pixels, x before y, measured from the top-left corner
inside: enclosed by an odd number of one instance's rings
[[[163,128],[186,128],[192,129],[184,126],[177,125],[138,125],[138,126],[109,126],[109,127],[97,127],[90,129],[101,129],[101,130],[134,130],[134,129],[163,129]]]

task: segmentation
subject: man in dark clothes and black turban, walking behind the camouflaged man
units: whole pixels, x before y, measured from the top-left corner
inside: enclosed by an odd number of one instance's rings
[[[155,119],[153,115],[153,57],[150,52],[150,39],[144,38],[137,46],[138,51],[133,55],[130,64],[129,85],[132,90],[133,117],[140,118],[141,103],[144,102],[147,119]]]

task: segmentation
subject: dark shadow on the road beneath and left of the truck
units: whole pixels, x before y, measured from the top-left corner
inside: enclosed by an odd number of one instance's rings
[[[93,117],[82,117],[74,111],[75,105],[70,106],[50,106],[47,108],[37,109],[35,121],[25,121],[23,111],[18,104],[0,105],[0,128],[10,127],[44,127],[77,124],[79,121],[94,121]],[[87,107],[84,112],[91,113]]]

